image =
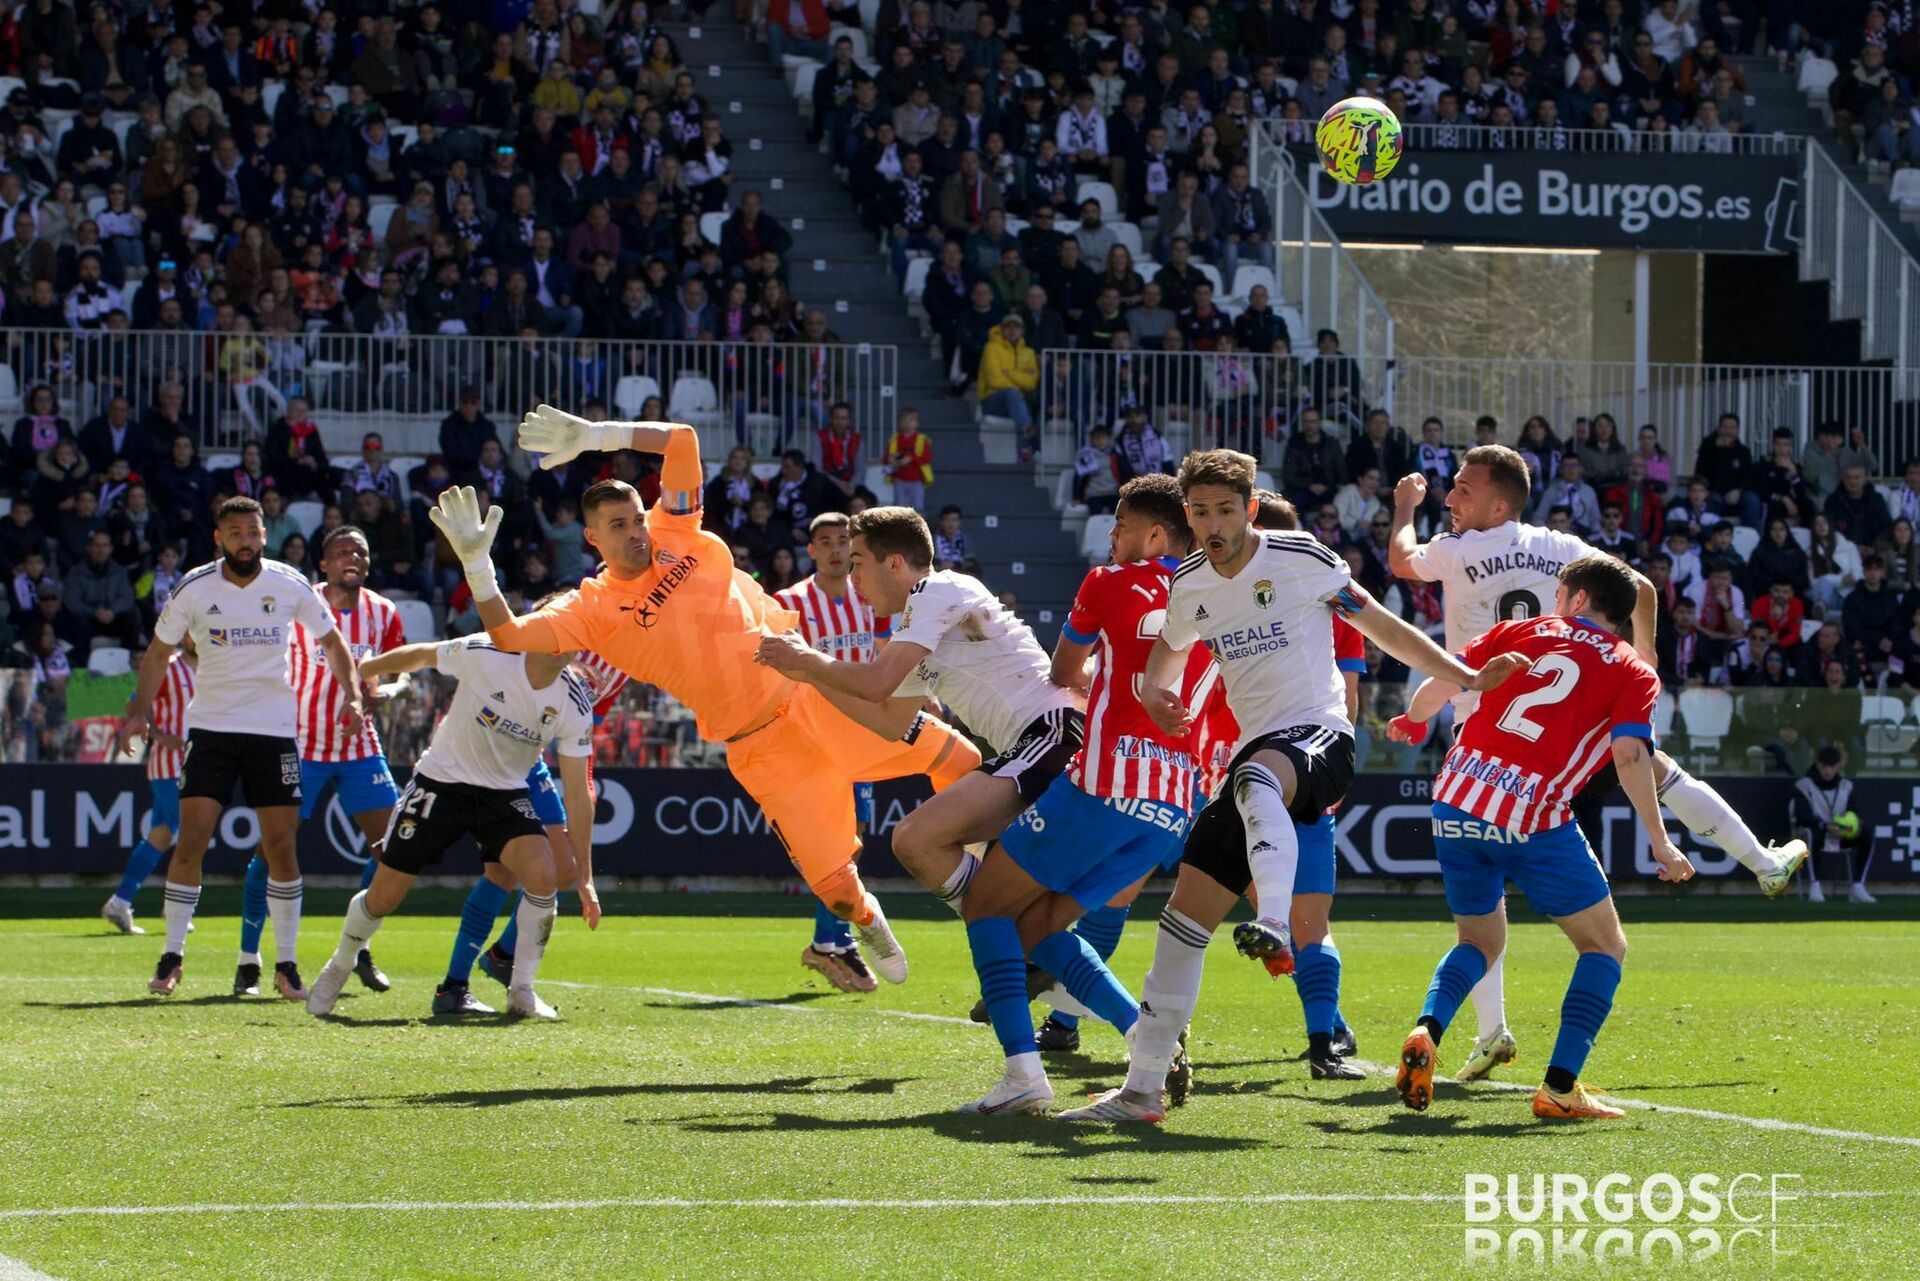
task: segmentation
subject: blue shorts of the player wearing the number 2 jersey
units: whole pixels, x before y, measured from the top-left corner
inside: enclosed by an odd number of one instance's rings
[[[1572,916],[1611,893],[1607,872],[1576,822],[1509,835],[1452,805],[1434,805],[1434,855],[1446,880],[1446,905],[1455,916],[1500,908],[1507,880],[1542,916]]]

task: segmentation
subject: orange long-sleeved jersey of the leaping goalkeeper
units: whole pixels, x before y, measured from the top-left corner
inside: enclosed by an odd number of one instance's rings
[[[568,647],[666,689],[693,709],[701,737],[726,741],[793,693],[795,682],[753,655],[762,636],[793,632],[801,618],[737,572],[726,540],[701,528],[703,484],[699,438],[674,432],[660,499],[647,511],[653,565],[639,578],[601,570],[580,595],[536,618]]]

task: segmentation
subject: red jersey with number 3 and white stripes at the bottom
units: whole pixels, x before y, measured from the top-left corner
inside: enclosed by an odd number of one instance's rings
[[[1068,778],[1094,797],[1194,803],[1194,736],[1173,737],[1140,707],[1140,678],[1167,618],[1167,584],[1177,561],[1102,565],[1081,582],[1066,636],[1094,649],[1087,693],[1087,741],[1068,764]],[[1196,647],[1187,661],[1183,701],[1192,705],[1213,659]]]

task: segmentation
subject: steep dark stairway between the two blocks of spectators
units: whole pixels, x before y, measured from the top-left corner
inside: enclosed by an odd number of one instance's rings
[[[733,190],[762,192],[766,211],[793,229],[793,296],[826,309],[847,342],[899,346],[895,403],[918,409],[920,426],[933,440],[929,509],[958,503],[966,511],[968,540],[985,582],[995,592],[1010,588],[1020,597],[1021,616],[1050,645],[1087,563],[1075,538],[1062,530],[1048,494],[1033,484],[1031,469],[1014,463],[1012,438],[1004,451],[995,447],[989,457],[972,396],[941,396],[941,365],[828,157],[806,142],[806,121],[766,46],[726,19],[674,23],[668,31],[701,96],[726,121]],[[877,461],[893,423],[860,423],[858,428],[868,459]]]

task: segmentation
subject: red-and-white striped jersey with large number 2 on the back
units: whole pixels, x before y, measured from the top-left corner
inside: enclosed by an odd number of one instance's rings
[[[1528,835],[1572,822],[1571,801],[1607,762],[1613,739],[1653,739],[1661,678],[1586,618],[1500,622],[1461,659],[1480,666],[1500,653],[1534,666],[1480,695],[1440,766],[1434,803]]]

